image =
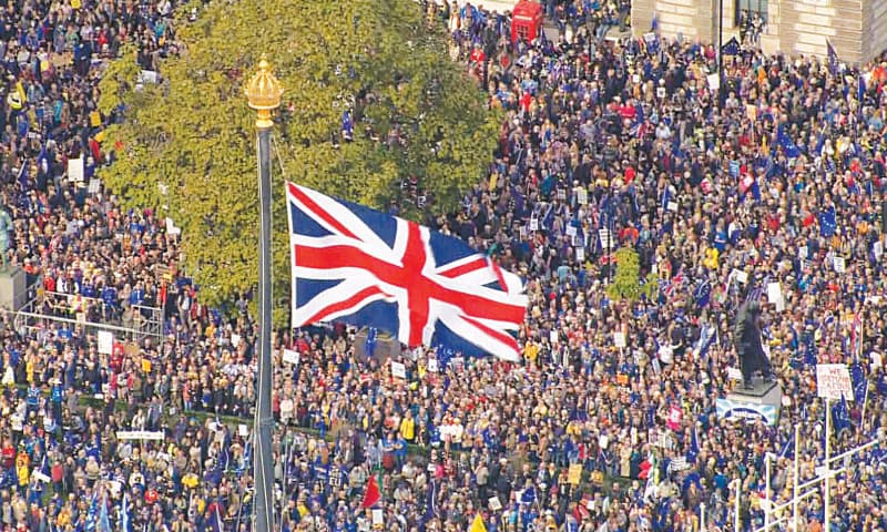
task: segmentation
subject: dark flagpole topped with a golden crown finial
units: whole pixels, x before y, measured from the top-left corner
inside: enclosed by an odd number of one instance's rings
[[[258,157],[258,382],[253,431],[258,441],[253,449],[253,505],[254,530],[272,532],[274,529],[274,472],[272,469],[271,432],[271,130],[272,111],[281,106],[283,88],[271,71],[264,55],[258,72],[244,90],[249,108],[256,111]]]

